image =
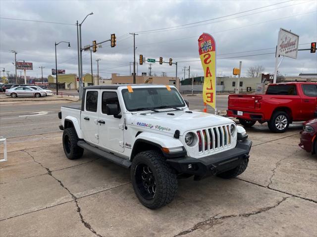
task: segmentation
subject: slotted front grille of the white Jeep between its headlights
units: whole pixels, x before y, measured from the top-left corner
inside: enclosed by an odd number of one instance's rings
[[[198,130],[197,136],[200,153],[209,153],[231,145],[232,137],[229,125]]]

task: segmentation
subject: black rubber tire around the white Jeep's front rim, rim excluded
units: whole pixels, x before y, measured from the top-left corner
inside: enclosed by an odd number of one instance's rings
[[[153,199],[148,200],[141,195],[137,184],[136,169],[138,165],[147,165],[156,181],[156,193]],[[135,156],[131,165],[131,181],[134,192],[140,202],[150,208],[156,209],[170,203],[177,193],[177,175],[158,151],[140,152]]]

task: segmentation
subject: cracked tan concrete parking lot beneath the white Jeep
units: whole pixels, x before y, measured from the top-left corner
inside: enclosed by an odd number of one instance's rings
[[[202,109],[197,97],[186,99]],[[43,106],[56,115],[59,105]],[[28,103],[12,104],[15,114],[0,106],[0,118],[13,118],[4,120],[15,131],[8,161],[0,163],[0,237],[317,236],[317,157],[298,147],[301,123],[283,134],[266,124],[248,128],[253,147],[242,175],[180,179],[175,199],[150,210],[135,196],[129,170],[89,152],[68,160],[57,117],[18,117],[27,106],[43,111]],[[52,127],[34,131],[21,118]],[[15,129],[16,121],[27,132]]]

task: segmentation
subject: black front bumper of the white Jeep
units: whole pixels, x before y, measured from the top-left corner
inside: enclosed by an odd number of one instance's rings
[[[251,146],[252,141],[246,139],[242,142],[238,141],[237,146],[231,150],[208,157],[171,158],[166,159],[166,162],[180,173],[193,174],[201,179],[237,167],[244,159],[249,158]]]

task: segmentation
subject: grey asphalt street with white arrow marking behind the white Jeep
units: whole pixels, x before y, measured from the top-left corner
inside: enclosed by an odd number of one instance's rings
[[[218,110],[226,110],[227,97],[228,95],[217,96]],[[204,109],[201,95],[185,95],[184,99],[189,101],[189,108],[191,110],[202,111]],[[12,138],[60,131],[58,128],[60,119],[57,118],[60,107],[80,104],[81,102],[69,101],[2,103],[0,105],[0,136]],[[208,113],[213,113],[211,107],[208,107]]]

